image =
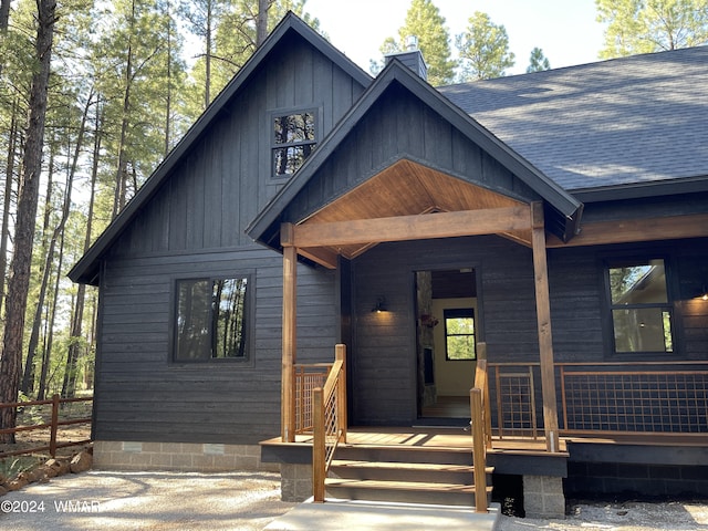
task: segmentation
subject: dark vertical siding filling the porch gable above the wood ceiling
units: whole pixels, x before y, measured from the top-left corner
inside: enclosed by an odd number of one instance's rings
[[[540,200],[538,194],[448,121],[394,84],[298,194],[284,219],[296,222],[306,218],[400,158],[524,202]]]

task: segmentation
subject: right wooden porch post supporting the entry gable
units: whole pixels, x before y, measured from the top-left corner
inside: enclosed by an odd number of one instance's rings
[[[533,202],[531,205],[531,243],[533,247],[535,313],[539,327],[545,446],[548,451],[558,451],[558,402],[555,398],[555,366],[553,362],[551,301],[549,294],[549,272],[545,256],[545,229],[542,202]]]

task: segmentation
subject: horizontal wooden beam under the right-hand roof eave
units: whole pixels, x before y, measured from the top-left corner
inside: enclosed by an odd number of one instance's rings
[[[708,238],[708,214],[582,223],[580,235],[569,242],[564,243],[552,236],[546,246],[600,246],[678,238]]]

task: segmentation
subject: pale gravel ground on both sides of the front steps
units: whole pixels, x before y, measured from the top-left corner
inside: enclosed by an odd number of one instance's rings
[[[275,473],[88,471],[0,498],[0,529],[257,531],[293,507]],[[498,529],[708,531],[708,503],[583,502],[565,520],[501,517]]]

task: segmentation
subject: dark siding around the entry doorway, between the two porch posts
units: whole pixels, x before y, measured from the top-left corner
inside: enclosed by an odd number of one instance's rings
[[[355,423],[415,420],[414,271],[475,268],[483,324],[478,341],[490,360],[538,360],[531,250],[498,237],[382,243],[353,261],[356,353]],[[371,312],[378,295],[388,312]]]

